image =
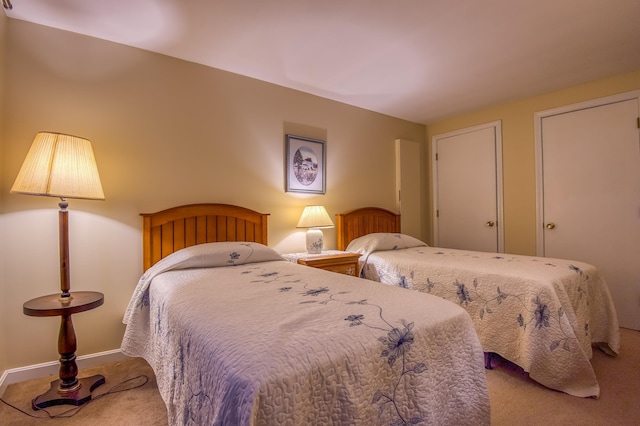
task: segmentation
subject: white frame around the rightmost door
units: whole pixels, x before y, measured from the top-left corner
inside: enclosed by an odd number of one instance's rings
[[[544,256],[544,164],[542,164],[542,120],[554,115],[566,114],[588,108],[640,99],[640,90],[563,105],[534,114],[534,136],[536,150],[536,255]]]

